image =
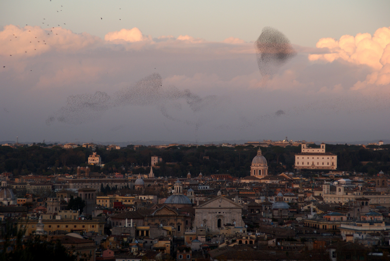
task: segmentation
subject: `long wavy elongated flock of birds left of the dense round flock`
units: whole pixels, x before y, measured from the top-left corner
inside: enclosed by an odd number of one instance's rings
[[[176,109],[181,109],[179,100],[186,101],[191,111],[199,112],[211,109],[218,102],[218,97],[200,97],[190,90],[179,90],[173,85],[165,88],[160,74],[153,73],[111,96],[99,91],[94,94],[71,95],[67,97],[65,106],[48,117],[46,124],[51,125],[56,119],[63,123],[82,124],[99,119],[103,112],[115,107],[155,106],[168,119],[197,127],[197,122],[181,120],[168,113],[168,109],[173,108],[172,104]]]

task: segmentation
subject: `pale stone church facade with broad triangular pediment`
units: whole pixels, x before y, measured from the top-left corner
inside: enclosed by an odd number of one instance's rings
[[[221,195],[194,208],[194,228],[208,228],[209,231],[219,231],[225,229],[226,224],[236,227],[245,226],[241,217],[243,206]]]

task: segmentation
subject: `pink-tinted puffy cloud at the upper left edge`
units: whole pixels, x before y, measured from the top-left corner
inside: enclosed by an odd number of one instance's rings
[[[75,34],[62,27],[6,25],[0,31],[0,55],[41,55],[50,50],[76,51],[101,42],[99,37]]]

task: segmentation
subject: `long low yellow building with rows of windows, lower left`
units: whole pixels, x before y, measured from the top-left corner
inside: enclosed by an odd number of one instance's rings
[[[49,233],[55,230],[65,230],[69,233],[71,232],[95,232],[98,235],[103,235],[105,221],[103,219],[92,219],[92,220],[82,220],[82,219],[43,219],[42,220],[44,230]],[[25,229],[25,235],[30,235],[36,230],[37,219],[25,219],[20,220],[17,224],[18,230]]]

